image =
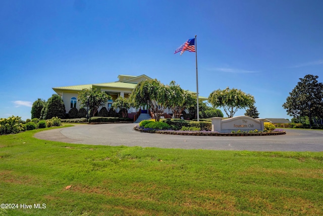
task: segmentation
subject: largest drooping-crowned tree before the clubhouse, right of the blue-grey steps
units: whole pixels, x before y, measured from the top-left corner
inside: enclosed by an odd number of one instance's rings
[[[170,95],[169,88],[154,79],[139,82],[130,98],[132,104],[137,108],[148,106],[155,117],[155,121],[159,121],[161,114],[169,107]]]

